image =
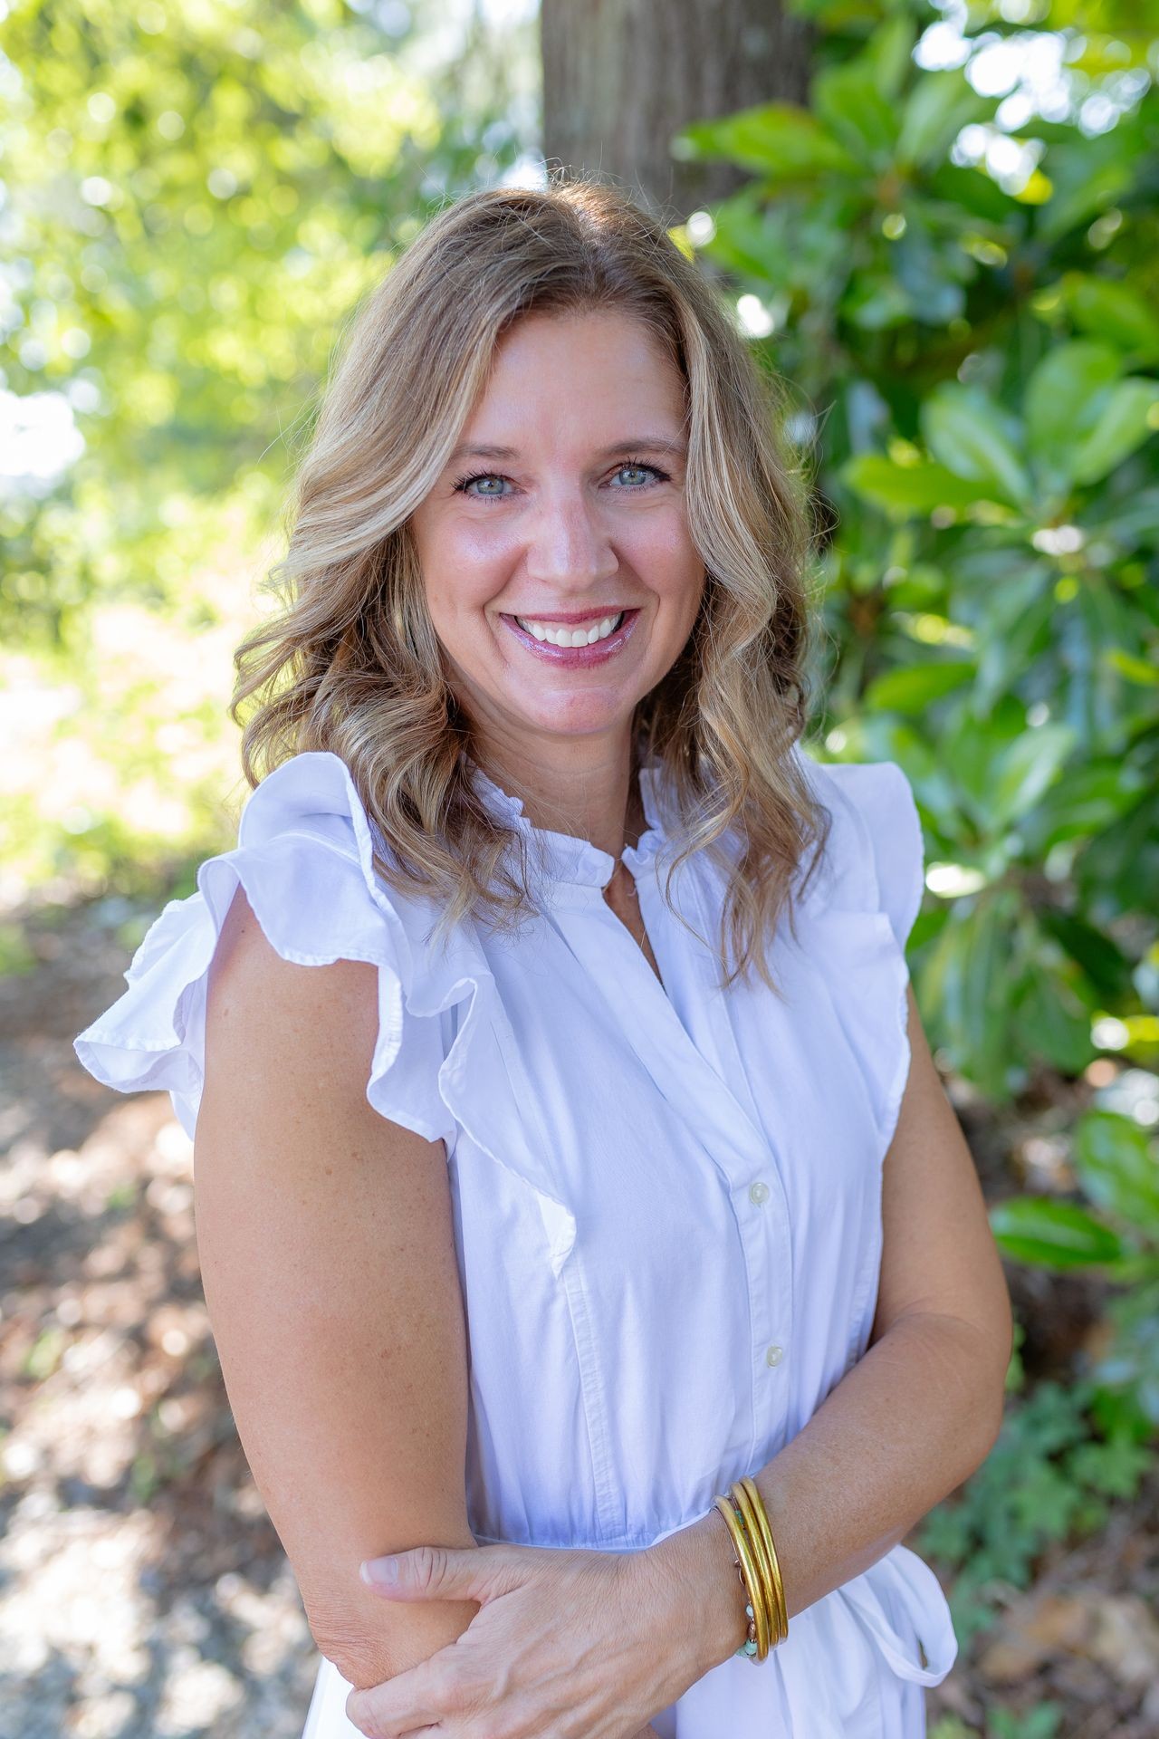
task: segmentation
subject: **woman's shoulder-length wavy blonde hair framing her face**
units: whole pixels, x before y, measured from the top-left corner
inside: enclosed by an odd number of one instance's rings
[[[678,864],[707,852],[726,876],[723,983],[756,967],[780,995],[766,943],[782,908],[796,936],[796,875],[813,845],[805,882],[815,873],[831,823],[791,753],[811,624],[803,490],[773,377],[664,223],[612,181],[556,172],[546,188],[467,193],[354,310],[297,466],[288,551],[262,583],[281,609],[235,652],[235,723],[257,697],[245,777],[306,750],[339,755],[381,835],[377,873],[441,906],[433,939],[467,913],[511,927],[535,909],[527,840],[473,784],[481,762],[408,516],[513,322],[591,310],[639,320],[685,381],[686,520],[707,577],[681,656],[634,718],[638,763],[662,763],[679,812],[666,897]]]

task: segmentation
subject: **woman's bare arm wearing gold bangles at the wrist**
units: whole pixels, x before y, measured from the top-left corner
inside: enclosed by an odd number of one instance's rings
[[[898,1544],[985,1461],[1001,1428],[1010,1292],[912,989],[909,1038],[909,1082],[883,1172],[869,1351],[754,1473],[791,1619]],[[641,1558],[669,1589],[695,1676],[728,1659],[744,1640],[744,1600],[721,1516],[709,1511]]]

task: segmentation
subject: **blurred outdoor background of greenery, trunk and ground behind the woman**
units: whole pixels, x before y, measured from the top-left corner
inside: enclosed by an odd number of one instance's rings
[[[1159,1734],[1157,77],[1156,0],[0,0],[3,1739],[299,1739],[189,1143],[71,1040],[235,843],[231,652],[356,299],[546,163],[652,202],[785,376],[808,746],[921,809],[1017,1313],[909,1539],[930,1732]]]

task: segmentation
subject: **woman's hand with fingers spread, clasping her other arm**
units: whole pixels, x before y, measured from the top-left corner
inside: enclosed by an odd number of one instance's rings
[[[367,1577],[384,1598],[480,1610],[448,1649],[351,1690],[348,1718],[367,1739],[427,1727],[448,1739],[655,1739],[652,1715],[690,1680],[645,1558],[509,1544],[398,1553],[394,1582]]]

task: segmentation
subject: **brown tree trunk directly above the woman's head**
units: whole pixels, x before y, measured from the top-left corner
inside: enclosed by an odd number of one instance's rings
[[[803,103],[808,26],[778,0],[542,0],[544,157],[610,176],[667,223],[744,181],[671,157],[672,134],[756,103]]]

